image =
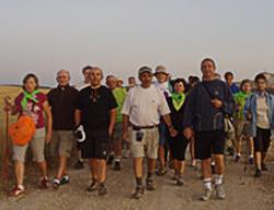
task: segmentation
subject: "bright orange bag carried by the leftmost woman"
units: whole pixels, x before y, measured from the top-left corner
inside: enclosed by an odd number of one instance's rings
[[[22,115],[18,121],[10,125],[9,136],[15,145],[27,144],[35,133],[35,124],[31,116]]]

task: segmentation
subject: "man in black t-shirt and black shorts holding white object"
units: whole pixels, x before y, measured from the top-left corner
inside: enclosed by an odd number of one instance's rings
[[[103,196],[107,192],[105,183],[106,156],[110,137],[113,135],[116,117],[116,101],[110,89],[102,85],[103,72],[94,67],[90,72],[91,85],[79,93],[76,125],[83,127],[80,143],[82,159],[89,160],[92,182],[88,191],[98,189]],[[81,129],[80,129],[81,130]]]

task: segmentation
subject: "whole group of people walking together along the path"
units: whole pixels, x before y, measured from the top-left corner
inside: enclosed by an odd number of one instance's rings
[[[216,69],[215,61],[206,58],[201,63],[203,77],[190,77],[186,82],[183,78],[172,80],[163,66],[158,66],[155,72],[144,66],[138,70],[140,84],[130,77],[124,88],[115,75],[107,75],[106,86],[103,85],[102,69],[88,66],[82,70],[84,81],[75,86],[69,83],[69,71],[58,71],[58,86],[47,94],[39,91],[38,78],[27,74],[23,92],[14,103],[5,98],[7,110],[31,116],[36,126],[27,144],[13,145],[16,184],[10,195],[19,196],[25,190],[24,161],[28,145],[42,171],[41,187],[48,188],[44,151],[45,143],[49,143],[50,155],[58,159],[53,179],[54,188],[58,189],[69,183],[68,159],[76,144],[79,161],[75,166],[82,168],[85,160],[91,173],[88,191],[96,190],[100,196],[107,192],[107,163],[114,161],[114,170],[119,171],[123,148],[126,152],[130,150],[136,178],[133,197],[139,199],[145,190],[156,189],[153,176],[164,175],[168,165],[174,170],[175,184],[184,184],[182,176],[190,144],[192,164],[202,161],[205,188],[202,200],[209,200],[214,191],[217,198],[225,199],[226,121],[231,121],[236,129],[236,140],[230,139],[236,148],[235,161],[240,161],[241,142],[247,139],[251,164],[254,158],[254,176],[260,177],[267,170],[266,152],[274,136],[274,96],[266,91],[267,81],[262,73],[255,77],[254,89],[250,80],[243,80],[238,88],[231,72],[221,81]]]

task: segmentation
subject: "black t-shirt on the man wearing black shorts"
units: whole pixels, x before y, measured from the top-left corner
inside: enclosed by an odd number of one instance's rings
[[[110,110],[117,104],[113,93],[106,86],[80,91],[77,109],[81,110],[81,124],[85,129],[106,129],[110,125]]]

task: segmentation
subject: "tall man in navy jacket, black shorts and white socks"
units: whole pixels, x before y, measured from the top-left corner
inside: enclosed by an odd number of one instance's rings
[[[202,160],[202,175],[205,195],[209,200],[214,189],[212,184],[212,154],[216,162],[215,189],[217,198],[225,199],[222,185],[225,174],[225,115],[233,113],[233,97],[228,85],[215,79],[214,60],[204,59],[201,65],[203,82],[194,86],[190,93],[184,110],[184,135],[189,139],[194,131],[195,158]]]

